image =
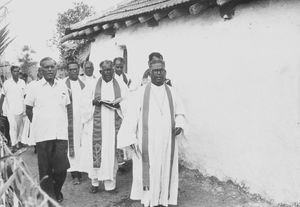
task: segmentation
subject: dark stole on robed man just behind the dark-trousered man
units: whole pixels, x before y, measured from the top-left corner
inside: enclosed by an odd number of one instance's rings
[[[81,90],[84,88],[84,83],[78,79],[79,85]],[[74,120],[73,120],[73,99],[72,99],[72,89],[71,89],[71,82],[70,79],[66,79],[66,85],[68,88],[69,96],[71,104],[67,106],[67,114],[68,114],[68,140],[69,140],[69,156],[74,157],[75,151],[74,151]]]

